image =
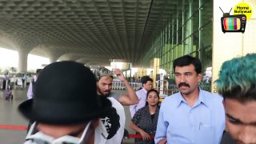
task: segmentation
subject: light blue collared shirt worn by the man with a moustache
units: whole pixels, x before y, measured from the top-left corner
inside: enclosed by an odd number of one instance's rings
[[[200,90],[198,101],[190,107],[179,92],[162,102],[154,141],[167,138],[169,144],[218,144],[224,129],[221,96]]]

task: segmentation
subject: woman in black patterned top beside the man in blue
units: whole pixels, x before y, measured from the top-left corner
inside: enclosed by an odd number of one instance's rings
[[[131,119],[130,128],[142,135],[135,143],[154,144],[154,134],[157,130],[159,114],[159,94],[157,90],[148,90],[146,106],[139,109]]]

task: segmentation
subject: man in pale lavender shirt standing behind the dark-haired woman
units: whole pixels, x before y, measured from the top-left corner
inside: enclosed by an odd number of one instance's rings
[[[146,92],[153,88],[153,79],[150,76],[145,75],[141,78],[142,89],[136,91],[136,95],[138,97],[138,104],[130,106],[130,115],[131,118],[134,117],[136,111],[146,106]]]

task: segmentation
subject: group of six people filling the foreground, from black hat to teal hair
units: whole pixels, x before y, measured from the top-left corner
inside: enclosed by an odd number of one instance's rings
[[[173,70],[179,92],[160,105],[148,76],[140,78],[142,89],[135,92],[122,70],[51,63],[38,74],[33,97],[18,106],[32,123],[25,143],[122,143],[123,106],[130,106],[130,128],[141,136],[135,143],[256,143],[256,54],[222,64],[218,94],[198,86],[198,58],[177,58]],[[127,94],[112,91],[114,75]]]

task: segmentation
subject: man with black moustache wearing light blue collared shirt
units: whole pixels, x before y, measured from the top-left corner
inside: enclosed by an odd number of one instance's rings
[[[179,92],[161,104],[155,143],[218,144],[225,129],[222,97],[201,90],[202,64],[189,55],[174,60]]]

